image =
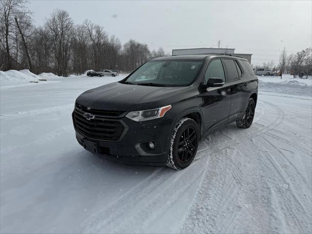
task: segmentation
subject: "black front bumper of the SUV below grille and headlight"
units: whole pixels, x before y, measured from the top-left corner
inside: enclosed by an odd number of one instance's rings
[[[98,156],[125,164],[165,166],[172,121],[165,117],[142,122],[127,117],[122,117],[121,120],[127,128],[118,141],[90,139],[75,127],[76,138],[81,146]],[[154,150],[148,147],[150,141],[155,142]]]

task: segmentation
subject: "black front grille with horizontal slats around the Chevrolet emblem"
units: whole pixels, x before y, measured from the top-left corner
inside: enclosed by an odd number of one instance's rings
[[[117,141],[121,137],[125,126],[121,120],[116,118],[107,118],[107,113],[113,113],[111,111],[104,110],[87,110],[87,108],[79,105],[80,108],[76,108],[73,113],[73,120],[76,130],[85,137],[90,139]],[[86,111],[83,111],[86,110]],[[94,119],[86,119],[83,117],[84,113],[95,115]],[[99,115],[98,113],[105,113],[106,115]],[[120,116],[124,112],[116,112],[115,116]],[[118,114],[118,115],[117,115]],[[112,114],[113,115],[113,114]]]

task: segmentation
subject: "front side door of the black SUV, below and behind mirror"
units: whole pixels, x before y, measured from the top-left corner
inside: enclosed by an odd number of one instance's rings
[[[225,73],[221,59],[212,60],[205,73],[204,84],[210,78],[221,78],[225,82]],[[226,85],[222,87],[210,87],[204,90],[203,105],[205,107],[205,130],[211,132],[227,123],[230,111],[230,89]]]

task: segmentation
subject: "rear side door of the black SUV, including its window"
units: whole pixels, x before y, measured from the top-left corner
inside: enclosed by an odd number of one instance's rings
[[[236,59],[223,59],[227,81],[226,84],[230,88],[231,104],[228,122],[233,122],[237,118],[241,118],[246,109],[246,100],[249,97],[249,88],[247,79],[241,67],[241,64]]]

